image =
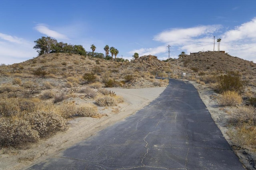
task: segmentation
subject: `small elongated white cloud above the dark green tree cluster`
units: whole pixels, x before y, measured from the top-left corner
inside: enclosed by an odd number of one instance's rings
[[[49,37],[53,37],[55,39],[68,39],[68,37],[66,37],[66,35],[63,35],[61,33],[58,33],[57,31],[53,31],[51,29],[49,29],[46,25],[44,24],[37,24],[35,26],[35,29],[37,31],[39,31],[42,34],[45,34]]]

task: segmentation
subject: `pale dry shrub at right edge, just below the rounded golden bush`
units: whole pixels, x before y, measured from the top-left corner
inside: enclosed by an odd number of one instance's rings
[[[234,107],[230,110],[230,122],[234,125],[241,126],[256,125],[256,108],[254,106]]]

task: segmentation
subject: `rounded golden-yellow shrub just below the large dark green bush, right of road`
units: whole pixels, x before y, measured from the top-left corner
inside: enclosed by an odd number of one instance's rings
[[[237,106],[242,103],[242,97],[235,91],[226,91],[222,93],[219,103],[224,106]]]

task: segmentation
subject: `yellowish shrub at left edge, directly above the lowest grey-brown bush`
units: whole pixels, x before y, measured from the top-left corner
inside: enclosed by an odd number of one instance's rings
[[[3,116],[15,116],[20,113],[20,108],[18,106],[18,100],[16,99],[6,99],[0,100],[0,114]]]

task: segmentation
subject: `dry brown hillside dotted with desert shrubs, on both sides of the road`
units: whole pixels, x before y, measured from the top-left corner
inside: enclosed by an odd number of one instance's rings
[[[0,75],[0,158],[66,131],[78,117],[100,119],[120,112],[123,96],[106,87],[165,87],[169,77],[207,89],[214,107],[227,117],[218,121],[228,124],[230,145],[249,155],[246,161],[256,162],[256,64],[251,61],[218,51],[166,61],[148,55],[130,62],[49,53],[1,64]]]

